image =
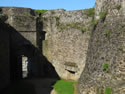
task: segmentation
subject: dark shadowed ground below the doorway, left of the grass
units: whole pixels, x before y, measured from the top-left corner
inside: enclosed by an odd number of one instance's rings
[[[2,94],[50,94],[56,79],[24,79],[4,89]]]

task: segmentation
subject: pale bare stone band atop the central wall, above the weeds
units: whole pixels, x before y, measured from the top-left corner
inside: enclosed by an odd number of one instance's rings
[[[87,23],[91,21],[91,17],[88,17],[85,10],[74,10],[74,11],[65,11],[63,9],[50,10],[44,14],[44,17],[55,17],[59,18],[60,23]]]

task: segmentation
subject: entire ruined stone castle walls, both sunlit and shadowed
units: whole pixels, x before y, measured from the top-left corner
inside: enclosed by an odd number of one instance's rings
[[[44,14],[29,8],[1,9],[0,89],[21,78],[17,63],[27,56],[31,76],[58,74],[78,81],[78,94],[104,94],[107,89],[125,93],[124,0],[96,0],[95,9]]]

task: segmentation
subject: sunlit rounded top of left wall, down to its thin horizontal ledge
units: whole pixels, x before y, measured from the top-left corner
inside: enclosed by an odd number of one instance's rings
[[[7,23],[17,31],[36,31],[35,13],[30,8],[0,7],[2,14],[8,16]]]

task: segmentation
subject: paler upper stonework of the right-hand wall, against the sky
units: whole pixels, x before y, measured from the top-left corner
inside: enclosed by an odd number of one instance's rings
[[[101,12],[107,12],[108,16],[125,15],[124,0],[96,0],[95,17],[99,19]]]

